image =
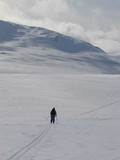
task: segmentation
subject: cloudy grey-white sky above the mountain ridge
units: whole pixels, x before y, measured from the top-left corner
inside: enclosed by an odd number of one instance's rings
[[[0,19],[52,29],[120,54],[120,0],[0,0]]]

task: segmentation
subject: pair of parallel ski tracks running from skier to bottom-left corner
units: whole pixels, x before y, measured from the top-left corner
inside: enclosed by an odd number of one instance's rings
[[[43,130],[43,132],[36,137],[32,142],[22,147],[20,150],[18,150],[16,153],[14,153],[11,157],[9,157],[7,160],[19,160],[22,158],[30,149],[32,149],[35,145],[37,145],[49,132],[52,125],[49,125],[46,129]]]

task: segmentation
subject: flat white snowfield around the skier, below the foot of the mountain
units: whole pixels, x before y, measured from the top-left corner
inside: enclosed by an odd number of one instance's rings
[[[119,88],[119,75],[0,74],[0,159],[120,160]]]

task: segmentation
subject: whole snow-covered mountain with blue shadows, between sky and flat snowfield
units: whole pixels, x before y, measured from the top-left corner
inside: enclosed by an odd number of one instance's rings
[[[7,61],[13,72],[16,71],[13,64],[17,62],[17,65],[25,65],[22,71],[27,65],[28,69],[32,66],[56,68],[56,71],[67,68],[67,72],[79,73],[120,73],[118,62],[88,42],[44,28],[5,21],[0,21],[0,61],[4,62],[1,72],[7,71]],[[21,70],[21,66],[17,68]]]

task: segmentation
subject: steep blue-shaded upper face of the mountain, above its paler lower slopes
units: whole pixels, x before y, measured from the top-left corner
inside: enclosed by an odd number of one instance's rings
[[[6,21],[0,21],[0,42],[17,40],[20,46],[45,45],[63,52],[104,52],[88,42],[65,36],[63,34],[40,28],[18,25]]]

